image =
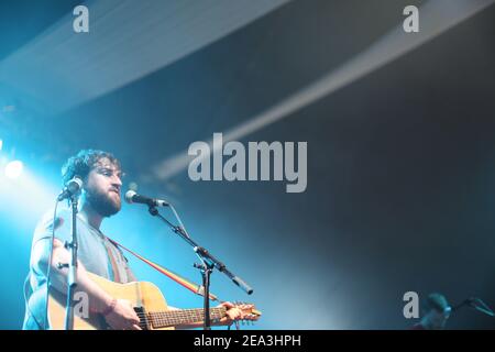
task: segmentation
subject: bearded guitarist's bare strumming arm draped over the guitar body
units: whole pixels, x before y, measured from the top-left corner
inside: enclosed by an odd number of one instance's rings
[[[33,268],[41,273],[46,273],[48,263],[50,239],[37,241],[33,248]],[[67,267],[58,267],[58,263],[66,264],[70,262],[70,253],[64,248],[63,243],[55,239],[53,244],[53,255],[51,265],[51,285],[66,293],[67,290]],[[97,312],[106,312],[106,320],[113,329],[133,329],[141,330],[140,319],[132,308],[131,304],[123,299],[114,299],[107,294],[100,286],[94,283],[85,268],[78,262],[77,265],[77,289],[84,292],[89,297],[89,308]]]

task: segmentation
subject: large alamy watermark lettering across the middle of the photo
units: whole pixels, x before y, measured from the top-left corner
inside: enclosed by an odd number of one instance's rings
[[[212,151],[199,141],[189,145],[188,154],[195,156],[188,167],[194,182],[286,180],[286,193],[290,194],[307,187],[307,142],[249,142],[245,147],[238,141],[223,145],[222,133],[213,133]]]

